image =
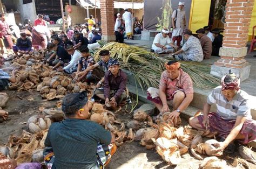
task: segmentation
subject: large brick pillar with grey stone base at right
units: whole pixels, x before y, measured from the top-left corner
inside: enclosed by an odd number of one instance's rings
[[[245,56],[253,3],[254,0],[227,0],[223,47],[220,59],[211,67],[212,75],[221,78],[232,69],[241,81],[249,78],[251,66]]]

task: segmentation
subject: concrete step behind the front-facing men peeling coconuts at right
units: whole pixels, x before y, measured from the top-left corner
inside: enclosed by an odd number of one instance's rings
[[[132,93],[134,95],[138,94],[138,100],[143,101],[145,103],[151,103],[152,104],[151,101],[147,100],[146,90],[144,90],[142,88],[139,88],[139,87],[136,88],[135,86],[131,85],[131,83],[127,84],[126,86],[129,89],[130,93]],[[187,115],[187,116],[192,117],[192,116],[194,116],[194,114],[198,110],[203,110],[203,105],[204,105],[204,103],[206,103],[207,96],[210,93],[211,93],[211,90],[194,89],[193,101],[188,106],[188,108],[186,110],[184,110],[184,114]],[[253,105],[253,108],[251,109],[251,115],[252,115],[253,119],[256,119],[256,109],[255,109],[256,97],[255,96],[251,96],[251,97],[252,97],[251,102],[254,102],[254,105],[251,103],[251,105]],[[210,111],[216,112],[216,105],[213,105],[211,107]]]

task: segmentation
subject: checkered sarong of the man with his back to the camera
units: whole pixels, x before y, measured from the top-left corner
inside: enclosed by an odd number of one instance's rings
[[[104,168],[109,162],[113,154],[117,151],[116,144],[100,144],[97,146],[97,167],[96,168]],[[48,167],[48,169],[52,168],[52,165],[55,161],[55,156],[52,150],[52,147],[45,147],[44,152],[44,163]]]

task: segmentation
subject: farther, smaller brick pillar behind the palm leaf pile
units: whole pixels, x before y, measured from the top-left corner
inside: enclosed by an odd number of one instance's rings
[[[102,21],[102,39],[106,41],[115,40],[113,0],[100,0],[100,16]]]

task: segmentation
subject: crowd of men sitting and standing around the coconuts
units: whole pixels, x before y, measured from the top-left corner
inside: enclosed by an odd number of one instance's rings
[[[208,27],[197,30],[198,38],[194,37],[186,28],[184,3],[179,3],[179,9],[172,14],[173,38],[169,38],[170,31],[163,29],[153,41],[152,50],[156,53],[172,53],[171,60],[165,64],[166,70],[161,74],[159,89],[147,89],[147,99],[152,101],[158,109],[160,118],[165,112],[171,112],[169,118],[178,118],[193,100],[194,89],[190,75],[180,67],[179,60],[202,61],[209,59],[211,54],[218,54],[222,36],[215,29],[210,32]],[[8,25],[4,15],[0,14],[0,30],[6,47],[14,50],[16,57],[29,53],[32,48],[38,50],[47,48],[51,54],[45,58],[48,65],[58,72],[65,72],[73,77],[73,82],[86,82],[96,85],[93,97],[96,101],[113,106],[122,105],[126,101],[127,76],[120,69],[118,60],[110,57],[110,51],[99,52],[100,61],[96,62],[87,47],[101,39],[100,28],[95,28],[93,16],[88,24],[70,26],[68,33],[48,32],[43,16],[35,20],[32,30],[32,40],[25,31],[16,45],[9,40]],[[131,37],[131,13],[125,9],[123,14],[127,38]],[[117,15],[114,32],[116,40],[123,43],[121,16]],[[182,37],[186,43],[180,48]],[[2,38],[1,38],[2,40]],[[3,41],[3,40],[2,40]],[[177,41],[177,43],[176,43]],[[0,68],[4,65],[0,58]],[[97,72],[101,67],[103,76]],[[0,89],[6,90],[8,83],[16,81],[15,71],[10,76],[0,69]],[[221,80],[221,86],[213,89],[204,105],[203,114],[189,119],[188,123],[197,130],[210,129],[218,131],[219,152],[234,152],[234,140],[247,144],[256,139],[256,122],[252,120],[248,103],[248,94],[240,89],[240,79],[231,71]],[[217,112],[210,112],[213,104],[217,105]],[[172,105],[172,110],[169,105]],[[114,134],[105,130],[101,125],[86,121],[90,117],[92,102],[88,100],[86,92],[66,95],[62,101],[62,111],[65,119],[61,123],[50,126],[45,139],[44,161],[48,168],[104,168],[111,156],[116,152]],[[8,118],[8,114],[0,111],[0,116]]]

